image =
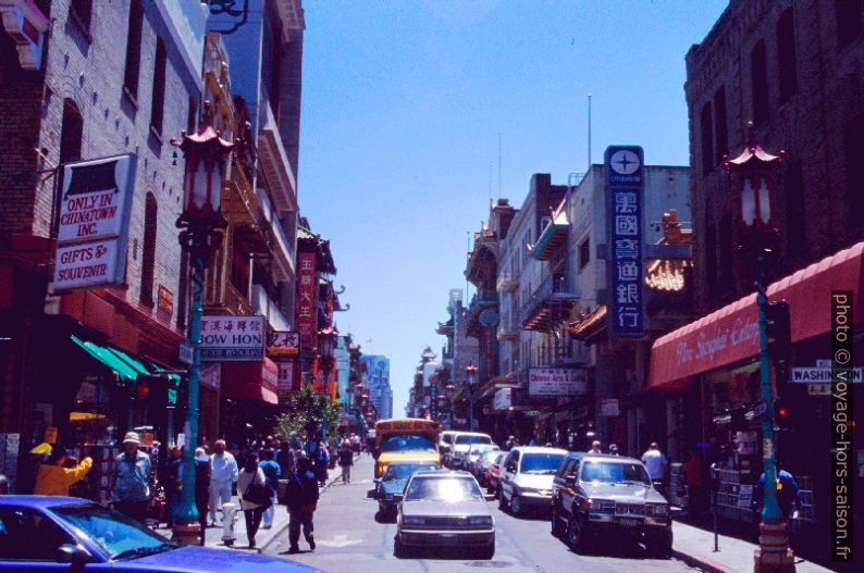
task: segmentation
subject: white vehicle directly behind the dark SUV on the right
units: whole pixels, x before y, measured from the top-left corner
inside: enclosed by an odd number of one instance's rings
[[[567,450],[518,446],[504,460],[498,506],[520,516],[529,509],[552,509],[552,481]]]

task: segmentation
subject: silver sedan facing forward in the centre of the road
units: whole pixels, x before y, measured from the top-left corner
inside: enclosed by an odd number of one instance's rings
[[[418,547],[479,549],[495,555],[495,519],[468,472],[416,472],[399,502],[394,555]]]

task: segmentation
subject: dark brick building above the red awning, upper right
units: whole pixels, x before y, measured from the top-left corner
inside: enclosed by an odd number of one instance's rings
[[[786,151],[777,201],[778,276],[864,238],[864,38],[861,1],[732,0],[687,53],[695,300],[706,312],[750,290],[735,258],[735,197],[724,155],[749,121]]]

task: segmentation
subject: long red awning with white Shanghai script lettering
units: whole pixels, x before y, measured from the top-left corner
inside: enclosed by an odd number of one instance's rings
[[[789,302],[793,342],[831,329],[831,290],[851,290],[853,324],[864,321],[862,252],[859,242],[768,286],[769,301]],[[649,389],[677,387],[695,374],[755,357],[758,345],[753,294],[655,340]]]

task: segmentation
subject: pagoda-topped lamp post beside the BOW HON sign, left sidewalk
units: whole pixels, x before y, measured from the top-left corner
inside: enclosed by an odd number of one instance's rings
[[[192,261],[193,306],[189,321],[189,344],[193,361],[189,366],[188,403],[186,407],[186,448],[183,453],[183,497],[174,516],[174,539],[184,544],[198,544],[200,531],[195,506],[195,447],[198,443],[198,376],[201,366],[201,294],[203,271],[210,253],[222,244],[222,233],[227,224],[221,212],[222,187],[225,167],[234,144],[220,137],[211,125],[210,102],[195,134],[182,133],[181,140],[171,139],[186,159],[183,185],[183,212],[177,217],[181,247]]]

